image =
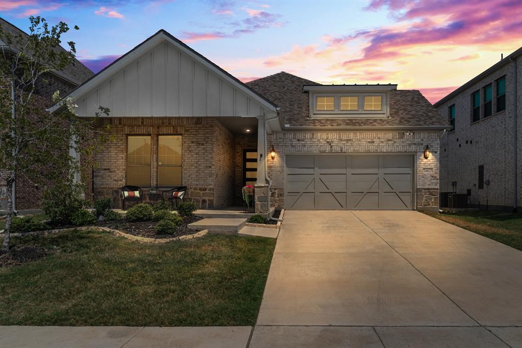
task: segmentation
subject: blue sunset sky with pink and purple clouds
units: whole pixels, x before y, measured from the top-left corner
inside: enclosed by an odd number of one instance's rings
[[[398,84],[436,102],[522,47],[520,0],[0,0],[0,16],[66,22],[98,72],[165,29],[243,82],[286,71],[323,84]]]

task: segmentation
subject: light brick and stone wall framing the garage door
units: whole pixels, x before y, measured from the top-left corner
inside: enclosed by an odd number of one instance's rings
[[[275,132],[267,136],[267,153],[274,145],[275,160],[268,159],[268,175],[272,179],[270,208],[284,206],[284,160],[286,154],[379,154],[414,153],[417,170],[417,208],[438,207],[439,132],[422,131],[330,131]],[[423,157],[430,147],[429,159]],[[424,173],[432,168],[432,173]],[[263,187],[256,188],[256,207],[266,207]],[[259,204],[258,204],[259,203]],[[263,209],[262,209],[263,211]]]

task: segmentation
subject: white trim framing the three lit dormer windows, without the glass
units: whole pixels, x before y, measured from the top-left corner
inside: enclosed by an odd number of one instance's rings
[[[346,92],[326,93],[310,91],[310,117],[311,118],[387,118],[388,117],[388,93],[387,92]],[[381,97],[382,110],[364,110],[364,97]],[[318,97],[334,97],[334,110],[317,110]],[[341,97],[358,97],[358,110],[340,110]]]

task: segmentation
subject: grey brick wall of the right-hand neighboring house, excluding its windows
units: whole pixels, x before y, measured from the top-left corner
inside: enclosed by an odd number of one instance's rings
[[[517,185],[518,207],[522,206],[522,56],[517,58]],[[485,74],[447,100],[436,103],[437,110],[448,117],[449,106],[455,105],[455,130],[441,138],[441,192],[453,192],[456,181],[457,193],[471,190],[469,203],[472,207],[511,211],[514,201],[514,127],[513,92],[514,63],[505,64]],[[496,111],[496,83],[506,78],[506,109]],[[483,87],[493,86],[493,114],[484,117]],[[480,90],[480,120],[472,122],[471,94]],[[479,189],[479,166],[484,166],[484,180],[490,185]]]

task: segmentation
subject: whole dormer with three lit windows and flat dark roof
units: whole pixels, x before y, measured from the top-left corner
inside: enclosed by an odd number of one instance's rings
[[[386,118],[389,91],[397,85],[310,85],[311,118]]]

